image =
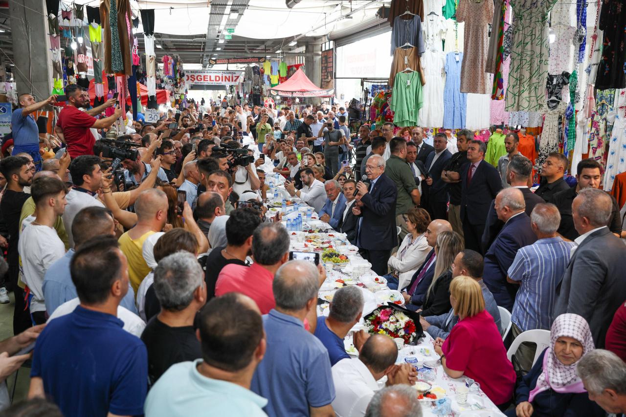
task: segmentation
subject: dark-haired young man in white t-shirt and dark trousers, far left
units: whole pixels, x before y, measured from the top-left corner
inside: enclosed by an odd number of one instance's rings
[[[67,188],[61,178],[39,177],[33,181],[31,195],[36,217],[22,231],[18,250],[22,260],[23,280],[28,287],[28,306],[35,324],[46,322],[43,278],[48,267],[65,255],[65,245],[54,230],[54,222],[63,215]]]

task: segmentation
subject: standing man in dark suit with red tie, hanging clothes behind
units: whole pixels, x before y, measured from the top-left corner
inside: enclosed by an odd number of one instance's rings
[[[466,249],[483,254],[481,238],[485,230],[491,200],[502,189],[500,173],[485,162],[487,145],[471,140],[468,145],[468,161],[459,173],[461,177],[461,222]]]

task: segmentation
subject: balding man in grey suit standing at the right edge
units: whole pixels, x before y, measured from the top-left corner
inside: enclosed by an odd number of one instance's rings
[[[557,286],[554,309],[555,317],[566,312],[584,317],[597,348],[605,346],[613,314],[626,299],[626,246],[607,227],[612,211],[611,197],[598,188],[583,188],[574,198],[572,217],[580,236]]]

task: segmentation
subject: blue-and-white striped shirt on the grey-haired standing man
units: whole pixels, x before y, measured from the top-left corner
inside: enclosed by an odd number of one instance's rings
[[[570,261],[573,246],[573,242],[560,237],[548,237],[518,250],[508,276],[520,281],[511,321],[521,331],[550,330],[556,287]]]

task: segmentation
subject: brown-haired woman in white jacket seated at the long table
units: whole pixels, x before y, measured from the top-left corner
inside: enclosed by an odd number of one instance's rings
[[[391,255],[387,265],[391,272],[385,275],[387,286],[391,289],[403,288],[409,282],[415,271],[426,259],[431,248],[426,241],[426,229],[430,224],[430,216],[424,209],[413,207],[404,214],[409,234],[398,248],[398,252]]]

